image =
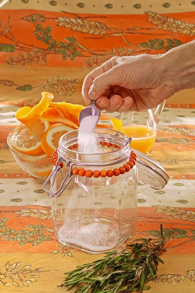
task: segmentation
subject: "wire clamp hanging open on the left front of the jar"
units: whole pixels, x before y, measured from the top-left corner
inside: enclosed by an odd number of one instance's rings
[[[56,190],[55,193],[52,193],[51,190],[54,186],[54,181],[55,181],[55,178],[56,178],[56,174],[58,173],[58,171],[62,172],[61,171],[61,166],[58,166],[58,163],[61,163],[61,162],[65,162],[66,163],[66,166],[67,167],[70,167],[70,170],[66,173],[63,181],[62,181],[62,184],[60,185],[60,187],[58,188],[58,190]],[[52,181],[51,181],[51,187],[49,188],[49,190],[47,190],[45,188],[45,185],[46,183],[51,179],[51,176],[54,176]],[[69,177],[68,181],[65,183],[67,177]],[[46,179],[45,183],[43,184],[42,186],[42,190],[44,190],[45,192],[48,193],[48,196],[49,197],[58,197],[60,196],[63,191],[65,190],[65,188],[67,187],[67,185],[70,183],[71,179],[73,178],[73,173],[72,173],[72,164],[71,164],[71,161],[65,161],[62,157],[58,157],[58,160],[56,162],[56,166],[54,168],[54,170],[51,172],[51,174],[49,175],[49,177]],[[65,184],[65,185],[64,185]]]

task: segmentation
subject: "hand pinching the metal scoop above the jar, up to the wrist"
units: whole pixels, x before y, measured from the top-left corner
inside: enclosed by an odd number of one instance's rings
[[[165,63],[169,62],[164,62],[164,55],[109,59],[85,77],[82,96],[86,104],[97,100],[96,106],[109,113],[154,108],[177,91],[168,81]]]

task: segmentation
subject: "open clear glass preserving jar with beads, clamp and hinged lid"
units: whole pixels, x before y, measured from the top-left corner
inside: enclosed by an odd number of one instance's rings
[[[43,190],[51,197],[58,241],[85,252],[103,253],[121,246],[134,232],[138,174],[139,181],[157,190],[168,183],[168,175],[159,163],[133,150],[137,154],[134,164],[131,138],[105,128],[95,132],[98,154],[78,152],[78,130],[60,138],[58,159]]]

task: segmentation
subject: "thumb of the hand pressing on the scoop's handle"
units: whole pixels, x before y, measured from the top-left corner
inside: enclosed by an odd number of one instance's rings
[[[120,65],[115,65],[108,71],[97,76],[94,79],[93,84],[89,88],[87,97],[90,100],[97,100],[98,98],[103,96],[106,90],[111,86],[120,86],[121,74],[122,73],[120,73]]]

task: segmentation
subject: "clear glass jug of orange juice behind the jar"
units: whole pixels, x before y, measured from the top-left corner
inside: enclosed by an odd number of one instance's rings
[[[132,137],[131,146],[134,149],[144,154],[149,153],[156,140],[157,125],[164,105],[165,101],[158,105],[154,114],[152,110],[147,110],[129,111],[119,115],[118,119],[123,126],[121,132],[127,137]]]

